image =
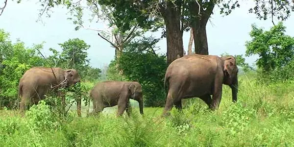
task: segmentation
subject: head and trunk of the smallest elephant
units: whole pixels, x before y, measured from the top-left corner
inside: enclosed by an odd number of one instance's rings
[[[129,91],[131,93],[131,98],[139,102],[140,113],[143,115],[143,95],[141,84],[138,82],[130,82]]]

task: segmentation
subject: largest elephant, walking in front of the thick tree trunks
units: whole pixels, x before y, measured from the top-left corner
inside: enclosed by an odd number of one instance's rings
[[[210,109],[218,109],[222,84],[230,86],[232,100],[236,102],[238,71],[233,56],[190,54],[174,60],[169,65],[164,79],[168,94],[163,116],[169,115],[173,105],[182,109],[182,98],[198,97],[205,101]]]

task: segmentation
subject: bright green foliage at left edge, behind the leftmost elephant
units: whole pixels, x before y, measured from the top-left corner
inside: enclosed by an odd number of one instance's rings
[[[29,49],[20,40],[12,44],[8,37],[9,33],[0,31],[0,107],[10,109],[18,105],[17,87],[22,75],[31,67],[44,66],[45,60],[37,51],[42,45]]]

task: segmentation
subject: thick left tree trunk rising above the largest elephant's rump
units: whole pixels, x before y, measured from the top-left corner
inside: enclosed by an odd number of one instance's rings
[[[161,10],[167,29],[168,64],[171,64],[173,60],[184,55],[183,33],[180,25],[180,8],[180,6],[175,6],[172,1],[167,1],[166,9]]]

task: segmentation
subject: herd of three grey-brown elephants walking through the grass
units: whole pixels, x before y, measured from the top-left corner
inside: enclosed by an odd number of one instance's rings
[[[173,105],[178,110],[182,109],[182,98],[198,97],[210,109],[218,109],[222,84],[230,86],[232,101],[236,102],[238,71],[233,56],[190,54],[174,60],[164,77],[167,98],[162,116],[168,116]],[[20,111],[24,115],[29,105],[38,104],[48,92],[56,92],[60,87],[68,88],[80,80],[78,71],[74,69],[33,67],[27,70],[19,82]],[[118,105],[117,116],[121,116],[124,110],[130,116],[130,98],[139,102],[140,113],[144,114],[142,86],[138,82],[98,82],[90,91],[90,98],[93,102],[91,115],[98,114],[105,107]],[[81,116],[80,98],[77,100],[77,114]]]

